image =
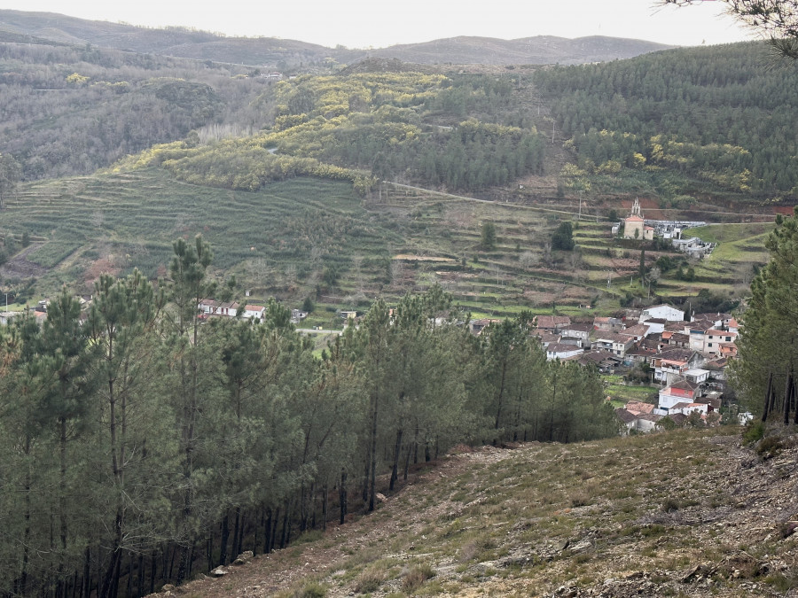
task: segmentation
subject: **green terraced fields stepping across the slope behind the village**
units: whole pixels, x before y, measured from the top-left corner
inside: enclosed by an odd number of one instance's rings
[[[617,309],[628,291],[639,294],[639,248],[614,240],[608,223],[574,221],[576,250],[552,250],[552,231],[570,218],[556,206],[387,186],[362,199],[348,183],[310,178],[256,192],[223,190],[152,169],[28,184],[0,211],[0,231],[17,238],[27,232],[35,242],[25,259],[40,295],[63,283],[89,292],[102,271],[139,268],[165,276],[173,240],[202,234],[214,249],[216,276],[235,275],[241,290],[253,291],[252,301],[275,295],[293,306],[314,298],[317,323],[335,322],[336,308],[364,309],[378,295],[395,299],[433,283],[473,317],[524,308],[595,315]],[[485,221],[497,233],[489,250],[481,247]],[[724,224],[692,231],[721,245],[692,264],[694,281],[664,273],[655,291],[741,293],[754,264],[767,258],[763,238],[770,228]],[[646,250],[646,264],[661,255],[678,257]],[[0,276],[12,287],[24,284],[11,265]]]

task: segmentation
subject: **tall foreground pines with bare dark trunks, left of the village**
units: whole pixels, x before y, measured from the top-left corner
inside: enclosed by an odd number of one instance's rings
[[[201,320],[229,288],[201,237],[174,252],[167,281],[101,276],[88,312],[64,291],[0,337],[5,594],[148,594],[374,509],[458,443],[617,433],[598,372],[547,362],[528,314],[473,337],[435,286],[318,356],[274,300]]]

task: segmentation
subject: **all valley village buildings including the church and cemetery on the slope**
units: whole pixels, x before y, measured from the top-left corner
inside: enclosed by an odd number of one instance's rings
[[[703,221],[647,221],[635,199],[630,215],[613,227],[614,236],[641,242],[654,237],[671,240],[673,246],[692,259],[708,255],[714,244],[705,244],[697,237],[683,237],[685,229],[705,225]],[[250,291],[246,291],[249,297]],[[91,296],[78,298],[85,320]],[[43,322],[47,314],[46,299],[31,309],[35,319]],[[210,318],[240,318],[259,322],[266,317],[266,307],[237,301],[202,299],[198,307],[200,321]],[[21,312],[2,314],[7,323]],[[556,314],[556,311],[555,311]],[[354,310],[339,310],[341,328],[357,326],[362,315]],[[393,315],[393,310],[391,310]],[[300,324],[309,312],[292,309],[290,320]],[[442,314],[436,324],[447,317]],[[480,336],[497,318],[477,318],[457,322],[467,325],[474,336]],[[546,360],[575,361],[583,367],[596,367],[605,377],[624,380],[625,385],[650,389],[645,400],[628,400],[615,414],[622,423],[622,433],[655,431],[687,423],[718,423],[722,407],[729,407],[725,369],[737,355],[735,344],[739,325],[728,313],[685,314],[669,305],[627,308],[614,316],[537,315],[535,330]],[[316,334],[321,326],[300,329],[303,334]],[[340,330],[323,330],[340,334]],[[619,404],[608,391],[606,400]],[[728,394],[728,393],[726,393]],[[656,400],[654,400],[656,397]],[[740,415],[742,420],[747,415]],[[667,418],[667,419],[666,419]],[[741,420],[741,421],[742,421]]]

